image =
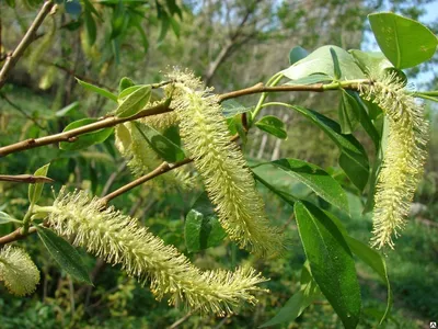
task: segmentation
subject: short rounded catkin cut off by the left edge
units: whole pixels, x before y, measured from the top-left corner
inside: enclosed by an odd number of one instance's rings
[[[0,250],[0,281],[11,294],[24,296],[35,291],[39,271],[27,252],[7,246]]]

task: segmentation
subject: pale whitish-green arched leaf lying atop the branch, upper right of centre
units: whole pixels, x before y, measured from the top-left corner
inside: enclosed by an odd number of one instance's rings
[[[341,79],[365,78],[364,72],[355,63],[354,57],[343,48],[336,46],[322,46],[281,72],[285,77],[292,80],[301,79],[314,73],[324,73],[328,77],[332,77],[333,80],[335,79],[335,67],[331,52],[334,52],[337,56]]]

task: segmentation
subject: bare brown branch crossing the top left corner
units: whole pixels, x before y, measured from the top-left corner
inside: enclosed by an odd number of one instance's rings
[[[24,50],[34,41],[36,30],[38,30],[38,27],[41,26],[41,24],[43,23],[43,21],[45,20],[45,18],[50,12],[54,5],[55,3],[51,0],[47,0],[46,2],[44,2],[43,8],[35,18],[35,21],[33,21],[33,23],[28,27],[26,34],[24,35],[20,44],[16,46],[15,50],[13,50],[12,54],[8,55],[7,60],[0,71],[0,89],[7,82],[10,71],[15,66],[16,61],[19,61]]]

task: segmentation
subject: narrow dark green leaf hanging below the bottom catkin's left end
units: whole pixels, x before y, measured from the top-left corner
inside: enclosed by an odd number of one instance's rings
[[[69,242],[43,226],[36,226],[36,229],[44,246],[62,270],[80,282],[93,284],[81,257]]]

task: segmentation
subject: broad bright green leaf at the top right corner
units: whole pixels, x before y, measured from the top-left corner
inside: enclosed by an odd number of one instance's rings
[[[438,45],[435,34],[423,24],[392,12],[368,15],[377,43],[399,69],[429,60]]]

